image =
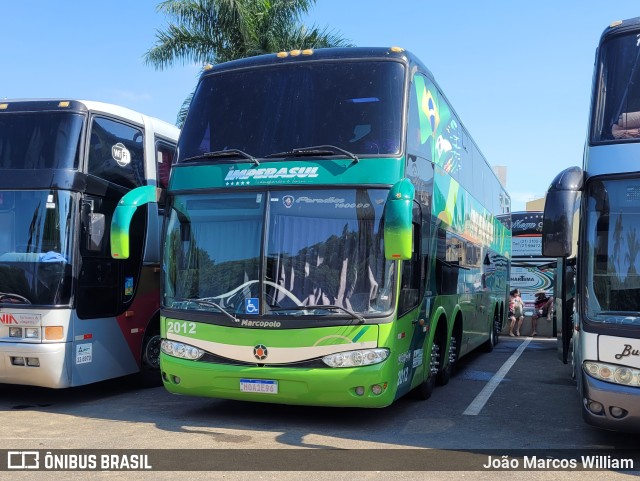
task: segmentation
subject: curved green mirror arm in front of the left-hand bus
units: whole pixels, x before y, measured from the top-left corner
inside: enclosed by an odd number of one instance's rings
[[[158,189],[153,185],[136,187],[120,199],[111,219],[111,257],[129,258],[129,228],[133,214],[138,207],[157,200]]]

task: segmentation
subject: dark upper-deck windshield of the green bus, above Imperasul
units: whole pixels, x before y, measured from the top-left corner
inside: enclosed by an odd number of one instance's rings
[[[404,66],[309,62],[204,77],[179,141],[179,161],[236,149],[266,157],[331,145],[352,154],[400,152]]]

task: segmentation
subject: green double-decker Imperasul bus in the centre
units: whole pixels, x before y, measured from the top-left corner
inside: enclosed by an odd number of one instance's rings
[[[165,387],[318,406],[428,398],[461,356],[497,342],[509,211],[403,49],[208,69],[166,196]],[[118,258],[129,217],[112,225]]]

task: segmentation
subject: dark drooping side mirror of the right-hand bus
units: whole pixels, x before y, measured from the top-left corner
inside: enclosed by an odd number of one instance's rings
[[[542,223],[542,255],[570,257],[574,245],[574,218],[583,185],[580,167],[563,170],[547,190]]]

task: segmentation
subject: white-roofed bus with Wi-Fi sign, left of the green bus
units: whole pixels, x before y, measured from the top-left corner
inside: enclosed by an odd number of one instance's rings
[[[0,101],[0,383],[158,369],[158,203],[133,215],[126,261],[111,257],[109,225],[141,201],[133,189],[155,201],[178,133],[100,102]]]

